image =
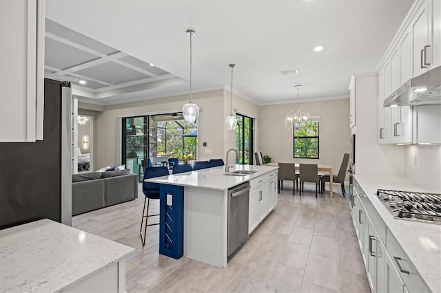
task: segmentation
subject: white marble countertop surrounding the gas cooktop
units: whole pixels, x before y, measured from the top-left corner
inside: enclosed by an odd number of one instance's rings
[[[441,292],[441,225],[394,219],[374,194],[378,188],[441,193],[403,178],[354,175],[393,237],[415,265],[432,292]]]

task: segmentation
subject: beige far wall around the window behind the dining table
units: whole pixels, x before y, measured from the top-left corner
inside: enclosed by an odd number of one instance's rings
[[[305,162],[331,164],[340,169],[343,154],[349,153],[349,96],[340,100],[302,102],[299,107],[311,116],[320,116],[319,159],[294,159],[292,131],[285,127],[285,117],[296,103],[259,107],[259,150],[272,162]]]

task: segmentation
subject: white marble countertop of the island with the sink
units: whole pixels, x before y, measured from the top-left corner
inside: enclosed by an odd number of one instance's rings
[[[234,169],[229,169],[229,173],[238,170],[256,171],[256,173],[246,176],[228,176],[224,175],[225,166],[218,166],[198,171],[155,177],[145,181],[225,191],[228,188],[247,182],[271,171],[275,171],[276,169],[278,169],[278,167],[275,166],[236,165],[234,166]]]

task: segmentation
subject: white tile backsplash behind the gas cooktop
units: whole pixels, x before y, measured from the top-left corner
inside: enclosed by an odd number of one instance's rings
[[[441,193],[441,145],[405,146],[404,175]]]

